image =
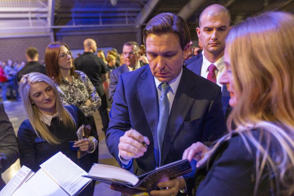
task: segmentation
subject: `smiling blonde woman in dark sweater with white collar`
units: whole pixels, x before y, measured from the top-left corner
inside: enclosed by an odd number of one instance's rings
[[[21,165],[37,171],[45,160],[61,151],[85,171],[93,160],[88,155],[77,159],[74,147],[92,153],[97,147],[97,133],[92,129],[88,139],[77,141],[76,131],[88,125],[83,112],[75,106],[63,106],[54,82],[44,74],[32,72],[22,77],[20,92],[26,119],[18,130]]]

